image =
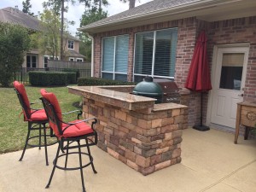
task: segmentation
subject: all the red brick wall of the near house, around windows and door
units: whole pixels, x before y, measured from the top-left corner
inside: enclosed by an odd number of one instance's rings
[[[178,28],[175,81],[179,88],[183,88],[186,82],[196,38],[201,30],[205,30],[208,38],[207,52],[210,70],[212,70],[212,55],[215,44],[250,44],[244,100],[256,101],[256,17],[214,22],[197,20],[195,17],[191,17],[182,20],[172,20],[151,25],[96,33],[94,35],[94,76],[98,78],[101,77],[102,38],[123,34],[130,36],[127,80],[132,81],[135,34],[137,32],[148,32],[172,27]],[[208,95],[204,94],[204,112],[207,112],[207,103]],[[186,104],[189,106],[189,125],[199,124],[201,119],[201,94],[192,92]],[[207,113],[203,113],[203,124],[205,124],[206,119]]]

